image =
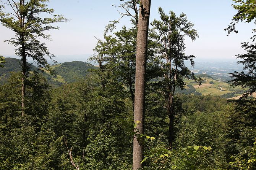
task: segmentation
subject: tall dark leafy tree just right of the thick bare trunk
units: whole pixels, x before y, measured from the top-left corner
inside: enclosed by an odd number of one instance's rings
[[[185,66],[185,61],[189,60],[193,67],[193,58],[195,57],[184,54],[185,36],[190,37],[193,41],[198,37],[198,33],[193,29],[194,24],[188,21],[186,14],[182,13],[180,16],[176,16],[173,11],[170,11],[170,15],[167,15],[160,7],[158,12],[162,21],[154,19],[151,24],[155,30],[153,33],[155,40],[159,44],[158,60],[162,68],[162,79],[157,81],[156,84],[160,87],[159,92],[165,99],[164,107],[167,109],[169,116],[169,147],[172,148],[174,138],[175,90],[185,87],[186,83],[183,78],[198,81],[189,68]]]

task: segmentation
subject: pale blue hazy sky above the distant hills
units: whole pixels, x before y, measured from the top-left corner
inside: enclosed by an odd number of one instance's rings
[[[5,0],[3,0],[4,2]],[[161,6],[165,13],[170,10],[176,14],[187,14],[194,23],[199,38],[193,43],[186,41],[187,55],[194,54],[199,59],[234,59],[236,54],[243,53],[240,43],[249,41],[253,23],[238,25],[239,33],[227,37],[224,29],[231,22],[236,11],[231,6],[232,0],[152,0],[150,22],[159,19],[157,9]],[[63,14],[70,19],[67,23],[58,23],[60,30],[50,31],[52,41],[46,41],[50,52],[58,55],[92,54],[97,38],[102,38],[105,25],[117,20],[120,15],[119,0],[51,0],[49,8],[56,14]],[[123,25],[130,27],[130,19],[123,18],[117,29]],[[0,54],[15,55],[14,47],[3,43],[14,36],[11,30],[0,26]],[[58,60],[58,58],[57,58]]]

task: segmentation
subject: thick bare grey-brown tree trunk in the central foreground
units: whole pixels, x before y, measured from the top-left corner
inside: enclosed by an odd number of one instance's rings
[[[144,133],[145,86],[147,63],[147,34],[151,0],[141,0],[139,8],[138,33],[136,40],[136,72],[134,96],[134,122],[139,133]],[[133,170],[142,168],[143,145],[134,135],[133,138]]]

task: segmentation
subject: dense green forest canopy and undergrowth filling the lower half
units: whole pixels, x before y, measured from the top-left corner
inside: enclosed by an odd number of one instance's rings
[[[37,86],[28,89],[27,115],[21,117],[18,77],[12,73],[0,87],[1,169],[74,169],[65,141],[80,169],[131,169],[133,106],[118,81],[103,90],[92,73],[51,89],[43,77],[31,75]],[[255,156],[255,110],[237,111],[233,103],[211,95],[177,94],[174,148],[158,157],[168,144],[164,99],[153,92],[146,99],[145,134],[154,140],[145,142],[145,169],[229,169],[229,162]],[[190,155],[183,153],[188,146],[211,149]]]

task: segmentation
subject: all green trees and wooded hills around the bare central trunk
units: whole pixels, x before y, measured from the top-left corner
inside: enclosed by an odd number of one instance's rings
[[[37,17],[42,11],[53,13],[46,8],[45,0],[25,5],[26,1],[21,2],[22,8],[13,8],[28,17],[29,27],[36,22],[47,25],[64,19],[59,15],[53,19]],[[238,14],[228,33],[236,31],[237,22],[246,18],[250,22],[256,16],[254,1],[236,2],[241,5],[234,6]],[[27,5],[33,8],[25,8]],[[193,67],[195,57],[184,53],[185,36],[195,40],[198,33],[186,14],[165,14],[159,8],[161,20],[154,20],[152,29],[147,30],[141,133],[141,122],[134,121],[139,28],[136,6],[141,9],[141,4],[131,0],[122,5],[135,9],[132,27],[113,30],[115,25],[108,25],[91,56],[99,67],[79,61],[48,65],[43,56],[50,55],[49,50],[36,38],[49,38],[41,32],[58,28],[32,27],[33,35],[29,29],[24,31],[24,25],[17,28],[19,21],[2,13],[0,5],[0,22],[23,36],[22,41],[19,36],[11,40],[15,46],[21,45],[16,50],[21,60],[0,56],[0,169],[131,170],[136,138],[144,148],[140,169],[255,170],[256,100],[248,97],[256,92],[255,45],[243,43],[247,53],[238,56],[249,71],[230,73],[231,86],[240,89],[219,96],[202,94],[198,86],[203,83],[209,81],[209,86],[218,89],[216,84],[223,82],[194,75],[185,66],[189,61]],[[25,35],[30,43],[24,43]],[[39,69],[26,62],[28,53]],[[226,100],[236,94],[243,96]]]

